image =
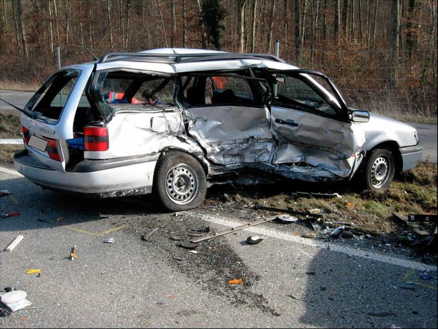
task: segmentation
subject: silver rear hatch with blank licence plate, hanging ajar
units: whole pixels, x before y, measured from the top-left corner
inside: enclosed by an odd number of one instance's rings
[[[82,127],[74,125],[85,116],[90,103],[85,89],[94,64],[68,66],[52,75],[32,96],[21,116],[23,138],[29,155],[53,170],[65,172],[71,155],[78,148]],[[75,118],[76,116],[76,118]]]

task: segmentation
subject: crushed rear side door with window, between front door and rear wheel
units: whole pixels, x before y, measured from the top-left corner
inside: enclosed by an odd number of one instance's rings
[[[183,95],[190,116],[188,131],[207,158],[234,167],[268,161],[272,132],[261,80],[237,75],[190,79]]]

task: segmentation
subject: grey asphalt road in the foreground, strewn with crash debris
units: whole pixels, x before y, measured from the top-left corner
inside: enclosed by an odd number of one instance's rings
[[[175,241],[143,241],[140,223],[166,219],[171,229],[172,221],[191,220],[222,231],[241,219],[197,210],[164,214],[129,198],[70,198],[6,168],[0,182],[12,192],[0,198],[1,209],[20,213],[0,219],[0,288],[25,291],[35,307],[0,317],[1,328],[437,328],[437,267],[396,256],[401,246],[348,248],[341,240],[298,237],[294,224],[253,226],[214,239],[257,281],[224,282],[225,293],[215,293],[208,272],[196,278],[183,270],[193,257],[214,259],[213,250],[181,248],[185,259],[177,267],[178,260],[162,256]],[[157,227],[155,239],[167,234]],[[18,235],[23,240],[5,251]],[[263,241],[244,244],[249,235]],[[433,278],[422,279],[425,272]]]

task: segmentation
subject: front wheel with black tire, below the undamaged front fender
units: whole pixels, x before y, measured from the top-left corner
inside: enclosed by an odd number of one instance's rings
[[[363,187],[372,192],[383,192],[394,179],[394,155],[386,148],[375,148],[365,158],[361,179]]]

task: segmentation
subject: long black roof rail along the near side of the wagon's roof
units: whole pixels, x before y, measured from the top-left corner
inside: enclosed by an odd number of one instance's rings
[[[276,62],[285,62],[279,57],[261,53],[106,53],[101,57],[99,63],[106,63],[109,60],[143,60],[145,57],[151,59],[166,59],[166,62],[203,62],[205,60],[238,60],[244,58],[260,59],[266,58]],[[208,57],[208,58],[206,58]]]

